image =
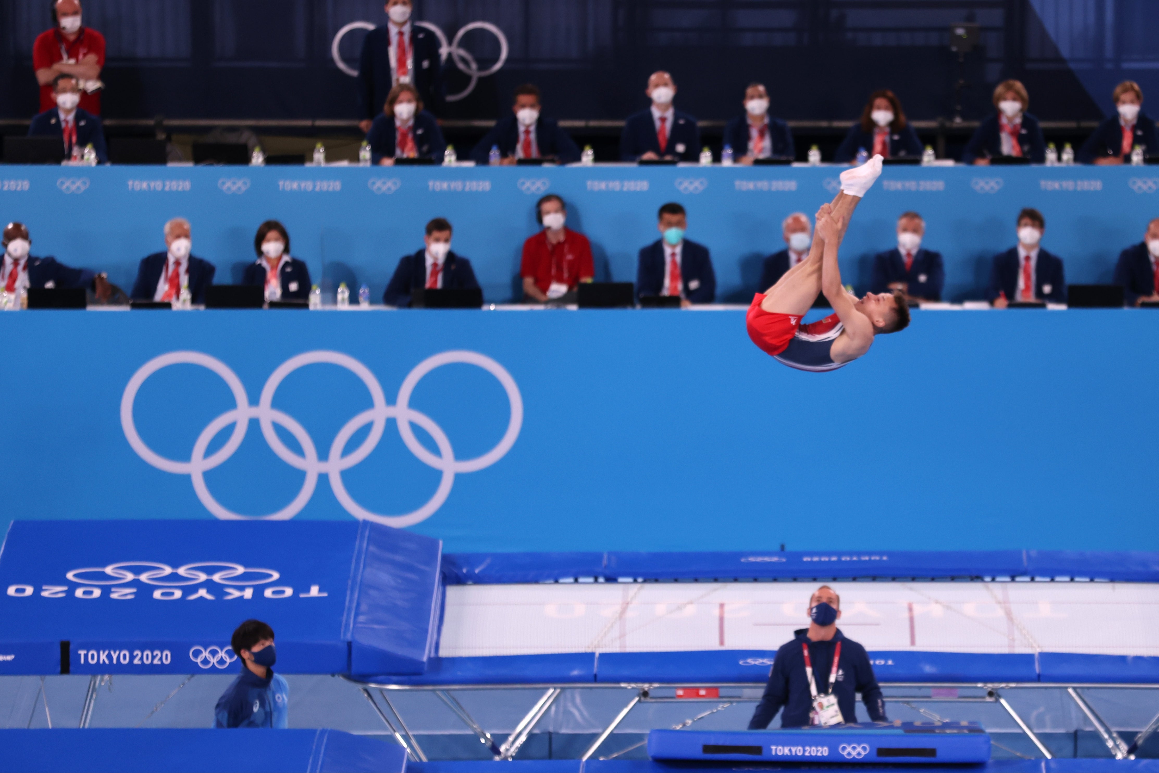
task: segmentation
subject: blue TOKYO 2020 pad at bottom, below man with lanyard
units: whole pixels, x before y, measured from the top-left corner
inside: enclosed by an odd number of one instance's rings
[[[845,724],[800,730],[653,730],[648,756],[745,763],[986,763],[990,736],[976,722]]]

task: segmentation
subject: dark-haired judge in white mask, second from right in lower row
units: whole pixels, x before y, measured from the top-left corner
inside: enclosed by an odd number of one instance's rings
[[[1026,207],[1018,216],[1018,247],[994,255],[990,271],[989,300],[994,308],[1012,301],[1066,302],[1063,258],[1042,249],[1047,220],[1042,212]]]

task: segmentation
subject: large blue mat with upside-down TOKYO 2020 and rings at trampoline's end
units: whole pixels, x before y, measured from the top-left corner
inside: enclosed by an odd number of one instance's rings
[[[371,523],[15,522],[0,674],[232,672],[247,618],[272,626],[286,673],[421,673],[439,557]]]

